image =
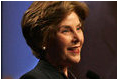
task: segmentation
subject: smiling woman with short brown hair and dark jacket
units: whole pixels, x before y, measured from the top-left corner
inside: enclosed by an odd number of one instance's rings
[[[75,78],[68,67],[80,61],[87,15],[88,7],[81,2],[33,2],[23,16],[22,31],[40,61],[21,78]]]

